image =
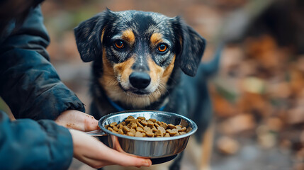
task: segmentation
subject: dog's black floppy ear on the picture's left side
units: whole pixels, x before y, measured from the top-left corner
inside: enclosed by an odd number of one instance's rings
[[[81,60],[91,62],[102,55],[101,34],[106,23],[108,10],[83,21],[74,28],[77,49]]]

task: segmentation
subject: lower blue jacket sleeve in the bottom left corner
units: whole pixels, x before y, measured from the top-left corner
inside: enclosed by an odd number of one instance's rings
[[[72,136],[52,120],[11,121],[0,111],[0,169],[68,169]]]

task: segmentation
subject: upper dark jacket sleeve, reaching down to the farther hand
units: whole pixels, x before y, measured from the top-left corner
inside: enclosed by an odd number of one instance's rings
[[[65,86],[45,50],[49,37],[40,6],[0,45],[0,96],[15,118],[52,119],[84,104]]]

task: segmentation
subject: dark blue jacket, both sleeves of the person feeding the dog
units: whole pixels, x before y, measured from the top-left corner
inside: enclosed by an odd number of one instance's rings
[[[12,21],[7,30],[0,38],[0,96],[17,120],[0,111],[0,169],[67,169],[72,137],[51,120],[69,109],[84,111],[84,105],[50,64],[40,7],[21,28]]]

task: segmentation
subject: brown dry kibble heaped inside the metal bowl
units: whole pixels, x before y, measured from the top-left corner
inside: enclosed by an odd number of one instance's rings
[[[167,124],[153,118],[146,120],[145,117],[137,117],[135,119],[132,115],[119,124],[114,122],[105,125],[105,128],[114,133],[133,137],[172,137],[186,134],[192,130],[190,127]]]

